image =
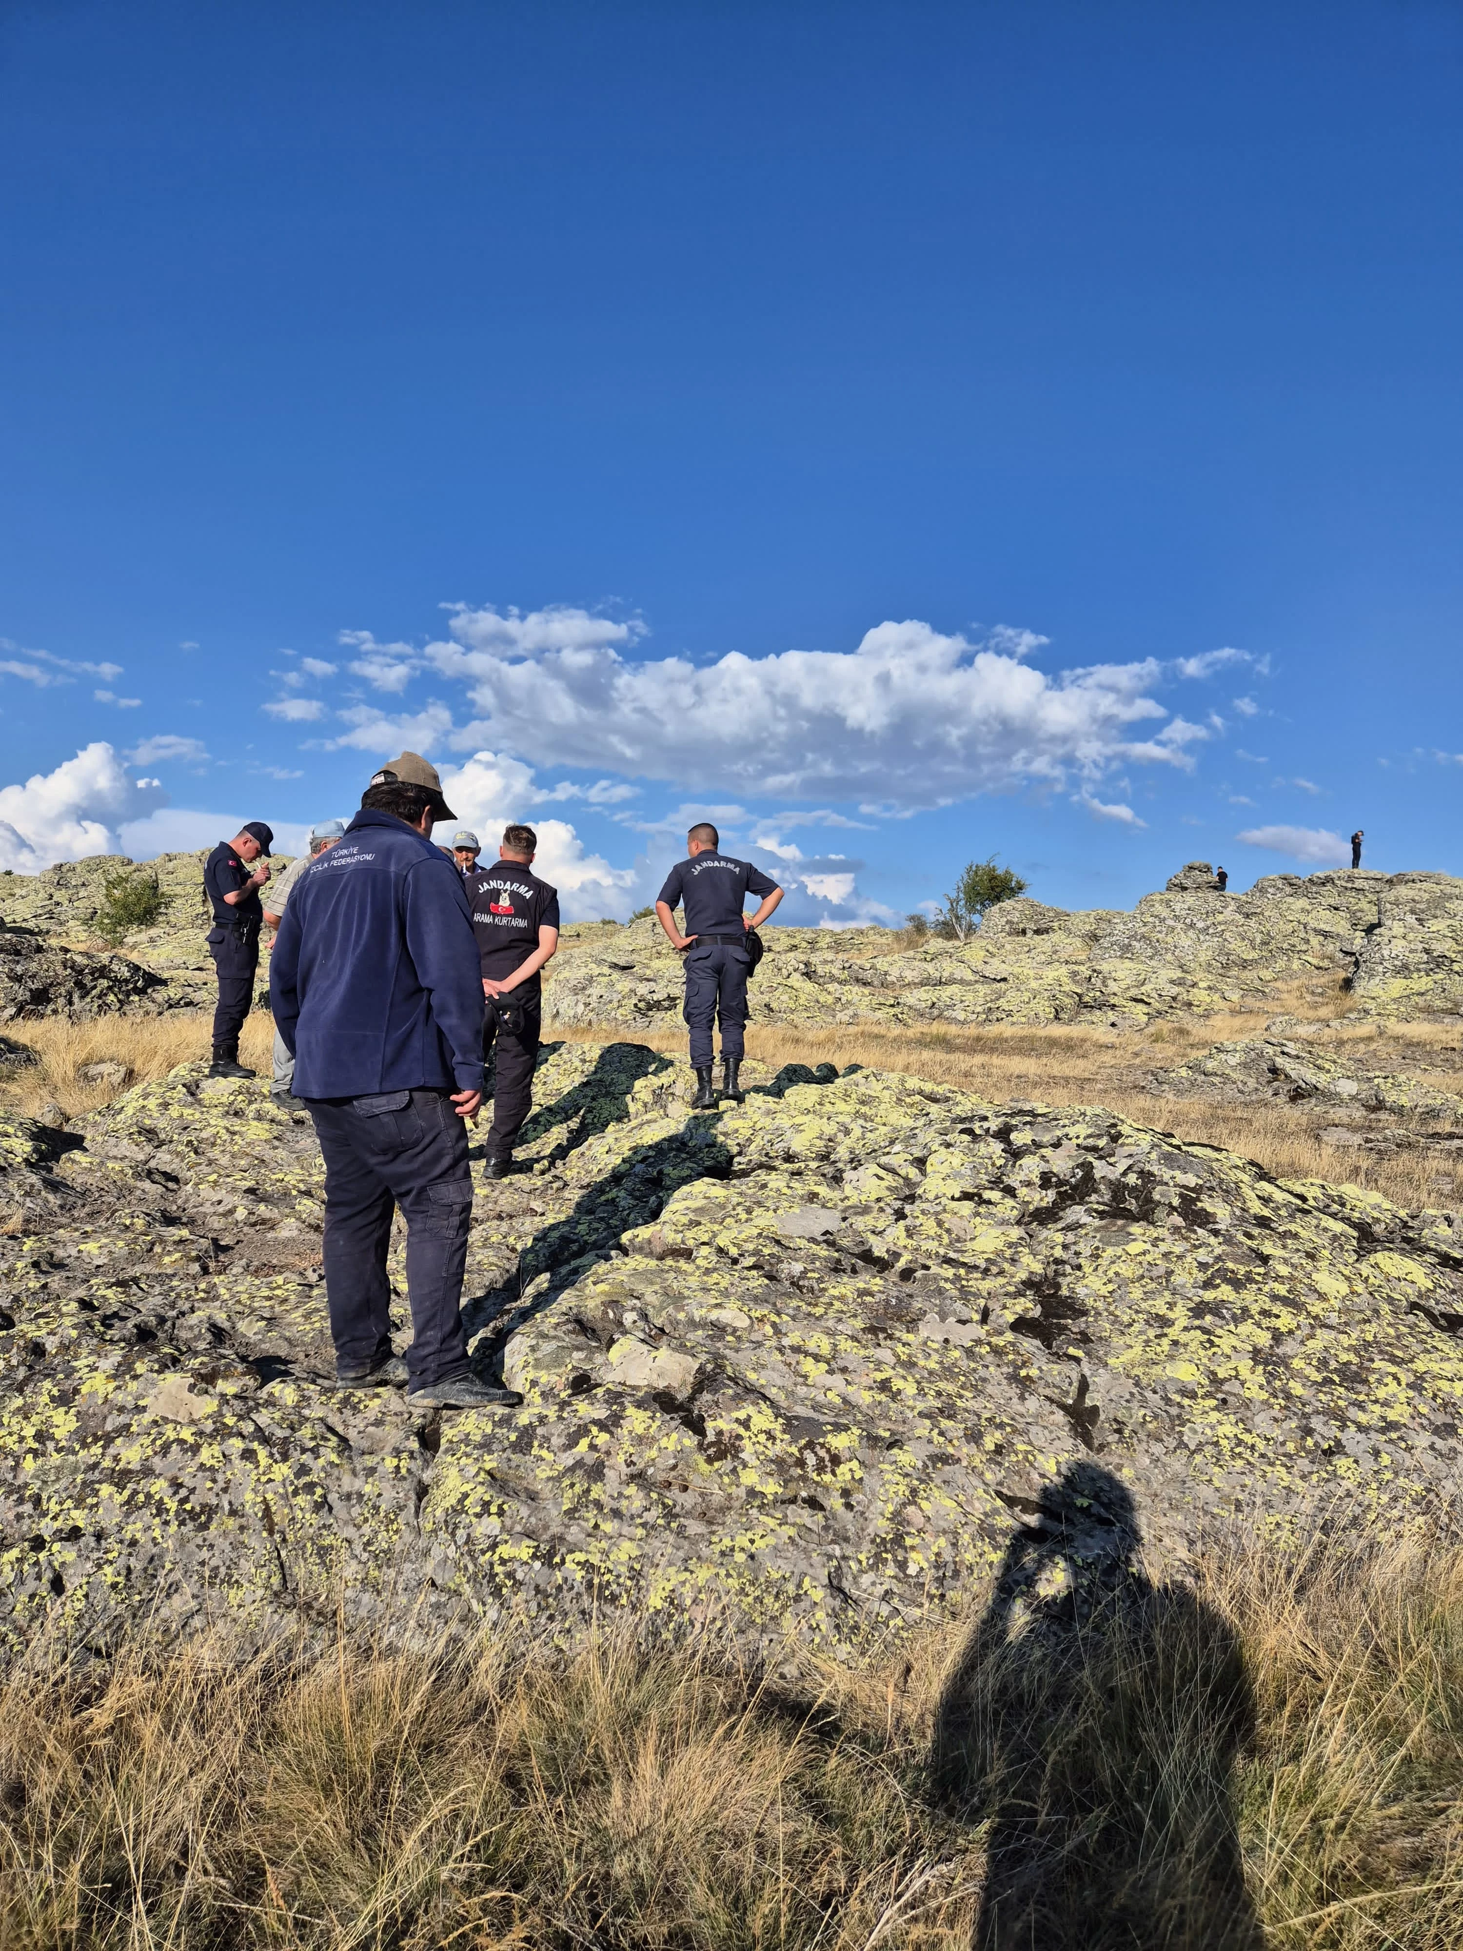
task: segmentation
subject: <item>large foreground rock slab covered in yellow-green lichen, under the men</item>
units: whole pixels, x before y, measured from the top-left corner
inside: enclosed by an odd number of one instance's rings
[[[12,1643],[337,1606],[849,1641],[964,1606],[1073,1459],[1159,1559],[1463,1489],[1449,1215],[1100,1110],[751,1075],[689,1116],[646,1048],[546,1052],[531,1169],[472,1233],[511,1413],[324,1385],[320,1161],[263,1081],[185,1065],[78,1134],[6,1124]]]

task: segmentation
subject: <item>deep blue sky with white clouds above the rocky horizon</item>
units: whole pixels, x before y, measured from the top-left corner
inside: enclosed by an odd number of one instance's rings
[[[0,6],[0,864],[414,743],[572,913],[702,810],[804,921],[1463,872],[1461,82],[1412,0]]]

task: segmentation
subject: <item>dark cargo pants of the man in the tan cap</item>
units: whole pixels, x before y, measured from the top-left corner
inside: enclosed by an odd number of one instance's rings
[[[392,1208],[400,1206],[414,1329],[406,1352],[410,1387],[464,1375],[468,1340],[458,1307],[472,1219],[466,1120],[447,1091],[310,1098],[306,1110],[326,1159],[326,1301],[336,1374],[359,1375],[392,1352],[386,1251]]]

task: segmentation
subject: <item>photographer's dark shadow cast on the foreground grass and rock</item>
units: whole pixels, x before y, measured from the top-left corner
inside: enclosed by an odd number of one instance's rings
[[[1129,1491],[1069,1463],[1007,1545],[944,1686],[930,1772],[989,1820],[975,1951],[1262,1951],[1235,1764],[1254,1709],[1231,1627],[1135,1563]]]

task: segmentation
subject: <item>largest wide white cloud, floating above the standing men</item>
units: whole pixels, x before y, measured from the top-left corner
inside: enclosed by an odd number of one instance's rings
[[[1166,718],[1149,697],[1157,659],[1049,677],[1012,632],[969,644],[927,622],[884,622],[854,652],[732,652],[696,665],[626,661],[634,628],[585,613],[540,613],[536,630],[521,628],[531,620],[456,611],[455,642],[425,648],[480,714],[455,741],[665,780],[683,778],[694,751],[710,784],[774,798],[872,790],[913,808],[1098,776],[1126,757],[1188,767],[1182,747],[1206,736],[1172,720],[1133,737]]]

